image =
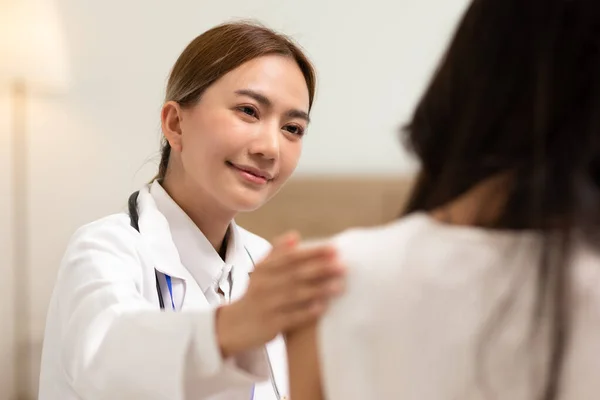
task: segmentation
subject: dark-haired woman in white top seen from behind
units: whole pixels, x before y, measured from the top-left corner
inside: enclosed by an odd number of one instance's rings
[[[600,399],[600,2],[473,1],[405,131],[405,216],[333,239],[292,399]]]

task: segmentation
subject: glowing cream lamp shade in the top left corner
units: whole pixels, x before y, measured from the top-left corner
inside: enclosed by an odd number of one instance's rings
[[[0,0],[0,88],[66,90],[67,53],[53,0]]]

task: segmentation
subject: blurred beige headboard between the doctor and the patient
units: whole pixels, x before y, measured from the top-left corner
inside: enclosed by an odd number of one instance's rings
[[[269,240],[294,229],[304,238],[391,221],[402,211],[410,177],[301,177],[237,223]]]

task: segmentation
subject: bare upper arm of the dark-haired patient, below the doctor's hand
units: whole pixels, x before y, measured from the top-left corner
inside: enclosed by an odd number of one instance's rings
[[[291,400],[323,400],[316,324],[288,334],[286,343]]]

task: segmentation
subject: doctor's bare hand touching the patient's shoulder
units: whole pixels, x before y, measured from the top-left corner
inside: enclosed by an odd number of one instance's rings
[[[317,319],[343,290],[344,267],[331,245],[302,247],[295,233],[278,238],[256,265],[246,294],[217,310],[217,341],[224,357],[271,341]]]

